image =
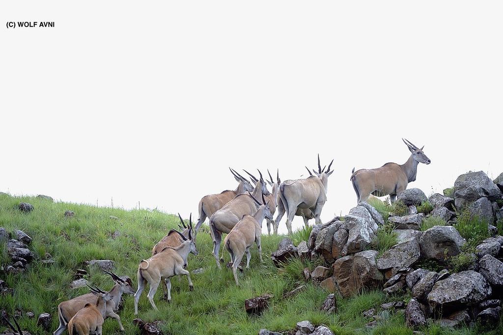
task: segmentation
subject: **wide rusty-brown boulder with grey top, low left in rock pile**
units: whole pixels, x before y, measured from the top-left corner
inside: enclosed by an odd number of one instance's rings
[[[382,283],[383,276],[376,264],[377,255],[376,250],[365,250],[336,260],[333,278],[343,296],[348,297],[362,288],[376,288]]]

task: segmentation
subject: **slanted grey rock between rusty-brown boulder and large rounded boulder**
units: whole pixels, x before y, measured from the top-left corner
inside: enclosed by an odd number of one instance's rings
[[[417,239],[410,238],[392,246],[377,259],[379,270],[390,270],[386,278],[391,278],[399,271],[407,269],[421,257],[421,250]],[[389,274],[389,275],[388,275]]]

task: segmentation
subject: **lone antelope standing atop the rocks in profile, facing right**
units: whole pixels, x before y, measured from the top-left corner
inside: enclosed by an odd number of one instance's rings
[[[426,157],[423,148],[418,149],[412,143],[402,139],[407,145],[411,155],[402,165],[396,163],[386,163],[376,169],[361,169],[351,175],[351,182],[355,189],[358,203],[366,202],[370,194],[375,196],[385,196],[393,203],[396,196],[407,188],[407,184],[415,180],[417,174],[417,165],[424,163],[430,164],[432,161]]]

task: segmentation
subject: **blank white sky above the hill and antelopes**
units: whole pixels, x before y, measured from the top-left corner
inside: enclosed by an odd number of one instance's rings
[[[402,137],[432,160],[409,187],[496,177],[502,14],[499,1],[2,2],[0,191],[197,217],[203,195],[235,187],[228,166],[293,179],[319,153],[335,159],[327,221],[356,204],[353,167],[408,158]]]

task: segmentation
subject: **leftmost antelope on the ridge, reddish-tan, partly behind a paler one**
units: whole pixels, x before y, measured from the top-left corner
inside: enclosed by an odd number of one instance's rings
[[[229,167],[230,172],[234,176],[239,184],[237,185],[235,190],[225,190],[218,194],[209,194],[203,196],[203,198],[199,202],[199,219],[196,223],[196,231],[195,234],[199,231],[199,228],[203,224],[206,218],[210,218],[213,213],[221,209],[225,204],[227,204],[230,200],[236,197],[238,194],[243,194],[247,191],[253,191],[253,185],[248,181],[248,179],[241,176],[236,171],[232,170]]]

